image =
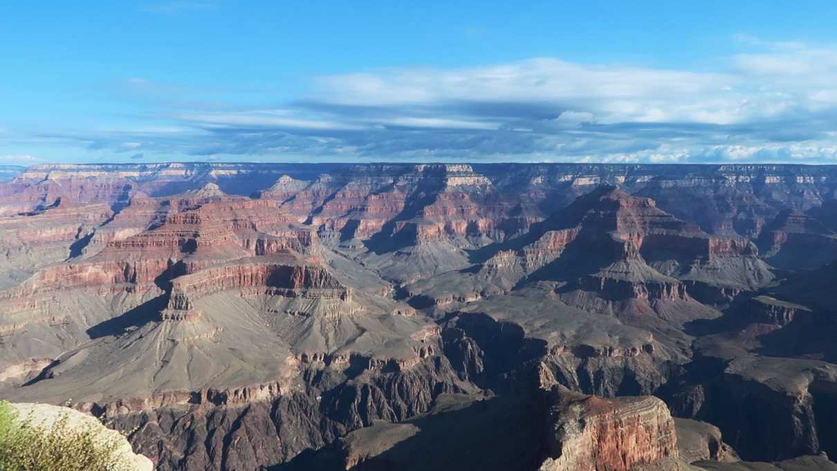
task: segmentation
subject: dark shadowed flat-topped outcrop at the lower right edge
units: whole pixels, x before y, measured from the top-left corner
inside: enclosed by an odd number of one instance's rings
[[[837,403],[835,375],[837,368],[825,362],[742,357],[714,381],[675,395],[670,405],[678,415],[716,424],[747,460],[830,455],[837,452],[830,418]]]

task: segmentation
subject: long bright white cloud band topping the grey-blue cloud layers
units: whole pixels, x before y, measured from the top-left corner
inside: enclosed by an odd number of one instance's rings
[[[688,105],[737,84],[734,76],[529,59],[466,69],[385,69],[316,81],[319,100],[342,105],[418,105],[451,100],[572,106],[603,122],[652,120],[661,110],[690,120]],[[595,111],[598,111],[596,113]]]

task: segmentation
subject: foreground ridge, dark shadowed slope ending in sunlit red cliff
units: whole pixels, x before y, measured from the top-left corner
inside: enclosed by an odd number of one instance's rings
[[[429,412],[401,423],[374,422],[285,468],[628,470],[682,464],[675,424],[659,399],[561,396],[443,395]]]

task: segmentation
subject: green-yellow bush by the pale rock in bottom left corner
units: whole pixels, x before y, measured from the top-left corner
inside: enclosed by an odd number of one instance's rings
[[[130,471],[116,454],[119,440],[95,427],[69,427],[69,414],[50,427],[18,420],[14,408],[0,401],[0,471]]]

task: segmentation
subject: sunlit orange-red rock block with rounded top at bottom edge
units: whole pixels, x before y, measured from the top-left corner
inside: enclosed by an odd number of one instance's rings
[[[552,407],[540,471],[629,471],[677,457],[675,422],[656,397],[579,397]]]

